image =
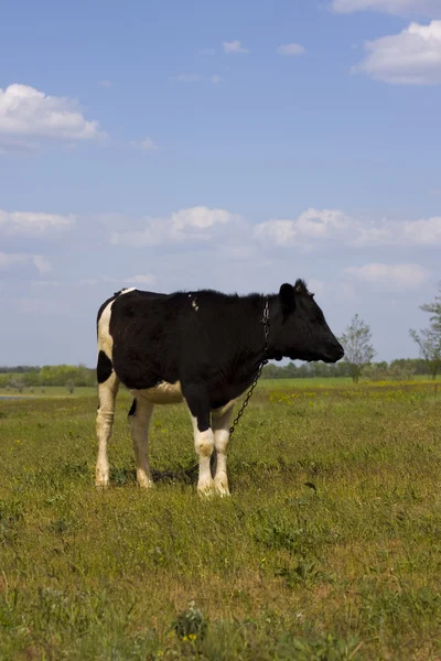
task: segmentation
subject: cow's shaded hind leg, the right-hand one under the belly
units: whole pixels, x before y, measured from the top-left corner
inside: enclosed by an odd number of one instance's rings
[[[153,404],[138,398],[133,400],[129,411],[131,440],[137,462],[137,479],[140,487],[148,489],[153,486],[148,455],[149,423]]]

